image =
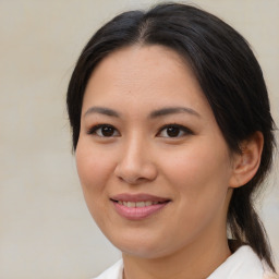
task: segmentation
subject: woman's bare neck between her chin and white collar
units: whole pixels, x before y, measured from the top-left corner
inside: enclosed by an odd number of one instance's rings
[[[123,253],[124,279],[205,279],[231,255],[226,230],[221,234],[201,236],[181,251],[157,258]]]

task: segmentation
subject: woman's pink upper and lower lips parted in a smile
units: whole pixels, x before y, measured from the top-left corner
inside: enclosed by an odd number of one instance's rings
[[[129,220],[143,220],[146,219],[154,214],[160,211],[163,209],[170,202],[169,198],[165,197],[159,197],[159,196],[154,196],[149,194],[119,194],[116,196],[112,196],[111,202],[113,203],[113,206],[116,208],[116,211],[121,216],[124,217],[125,219]],[[144,207],[128,207],[122,204],[119,204],[118,201],[121,202],[158,202],[159,204],[153,204],[149,206],[144,206]]]

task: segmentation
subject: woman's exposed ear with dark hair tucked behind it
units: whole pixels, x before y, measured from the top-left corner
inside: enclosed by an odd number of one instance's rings
[[[254,133],[248,140],[241,143],[241,153],[233,155],[233,173],[230,179],[230,187],[240,187],[256,174],[263,146],[264,136],[260,132]]]

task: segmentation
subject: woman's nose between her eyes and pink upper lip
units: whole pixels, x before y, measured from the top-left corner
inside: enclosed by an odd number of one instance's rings
[[[157,177],[150,148],[140,137],[134,137],[123,144],[116,175],[128,184],[150,182]]]

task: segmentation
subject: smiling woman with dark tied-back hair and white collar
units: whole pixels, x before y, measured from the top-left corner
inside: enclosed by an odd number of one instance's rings
[[[98,279],[275,272],[253,205],[274,121],[233,28],[178,3],[122,13],[82,51],[68,110],[88,209],[122,252]]]

